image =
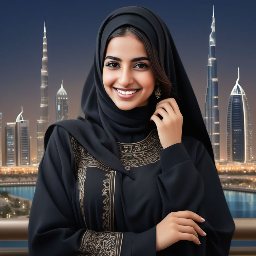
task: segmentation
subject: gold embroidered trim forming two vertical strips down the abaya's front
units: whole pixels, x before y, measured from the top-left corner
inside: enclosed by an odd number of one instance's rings
[[[78,181],[78,190],[79,190],[79,202],[80,208],[83,215],[84,223],[87,227],[85,216],[84,216],[84,182],[86,180],[86,170],[88,167],[98,167],[102,170],[107,171],[105,174],[106,179],[102,180],[102,196],[105,196],[103,199],[103,210],[102,215],[103,223],[102,228],[104,231],[113,231],[114,230],[114,187],[115,187],[115,174],[116,172],[112,170],[109,166],[100,162],[97,158],[92,156],[85,148],[72,136],[70,135],[72,149],[76,161],[76,175],[79,179]]]

